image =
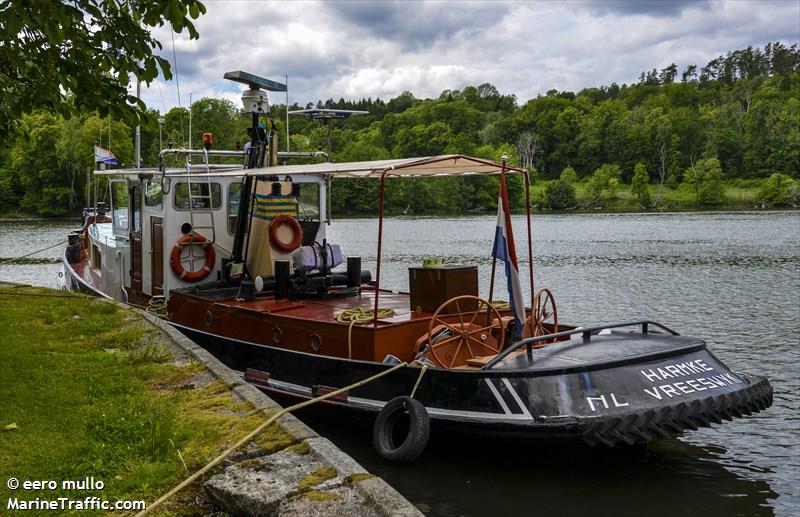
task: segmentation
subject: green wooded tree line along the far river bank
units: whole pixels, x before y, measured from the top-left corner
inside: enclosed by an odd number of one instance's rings
[[[797,204],[800,174],[800,50],[770,43],[748,47],[699,67],[675,64],[642,72],[635,84],[616,83],[579,92],[551,90],[525,103],[491,84],[445,90],[418,99],[403,92],[381,99],[328,99],[288,109],[326,107],[369,111],[334,122],[333,158],[361,161],[458,153],[531,172],[540,208],[590,208],[623,199],[639,208],[669,208],[681,196],[693,206],[725,202],[734,182],[757,190],[762,206]],[[271,118],[286,148],[287,106]],[[201,99],[189,110],[150,111],[142,128],[142,159],[157,165],[161,147],[215,148],[247,140],[249,119],[227,100]],[[163,125],[156,122],[163,119]],[[20,130],[0,151],[0,211],[62,215],[85,202],[93,144],[133,163],[133,130],[95,112],[63,118],[35,111],[17,120]],[[327,149],[327,128],[292,118],[292,151]],[[736,183],[738,182],[738,183]],[[523,203],[519,178],[510,182],[514,206]],[[625,196],[618,194],[624,192]],[[496,209],[496,178],[433,178],[391,182],[394,213],[463,213]],[[377,183],[338,180],[335,214],[373,213]]]

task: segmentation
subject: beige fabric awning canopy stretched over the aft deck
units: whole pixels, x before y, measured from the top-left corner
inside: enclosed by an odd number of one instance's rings
[[[459,176],[465,174],[499,174],[503,166],[489,160],[460,154],[428,156],[425,158],[398,158],[369,162],[312,163],[305,165],[279,165],[261,169],[211,173],[214,176],[296,176],[327,175],[337,178],[380,177],[387,172],[392,176]],[[506,166],[506,172],[523,172]]]

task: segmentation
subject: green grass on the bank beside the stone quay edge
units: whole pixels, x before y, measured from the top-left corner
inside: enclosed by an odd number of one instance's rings
[[[225,384],[194,385],[204,368],[173,362],[160,334],[116,305],[0,286],[0,327],[3,513],[9,497],[152,502],[263,421]],[[5,430],[10,424],[16,429]],[[279,428],[273,434],[286,441]],[[105,487],[12,492],[7,477],[59,485],[94,477]],[[186,489],[156,515],[199,513],[198,491]]]

